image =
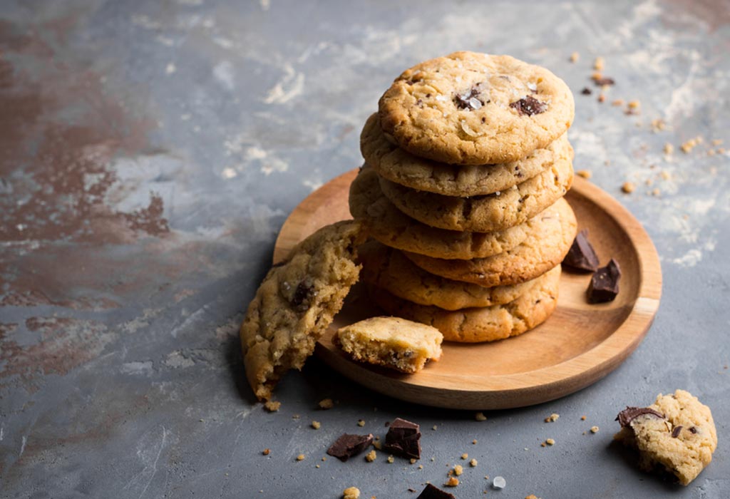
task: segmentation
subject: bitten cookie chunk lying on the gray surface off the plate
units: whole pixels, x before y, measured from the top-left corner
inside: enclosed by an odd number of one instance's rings
[[[657,396],[646,407],[627,407],[616,418],[621,431],[613,437],[639,451],[639,466],[661,465],[688,485],[712,461],[718,434],[710,408],[690,392]]]

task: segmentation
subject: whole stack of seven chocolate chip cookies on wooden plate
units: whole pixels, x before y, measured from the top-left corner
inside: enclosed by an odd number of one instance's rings
[[[556,308],[576,232],[574,104],[547,69],[459,52],[408,69],[361,134],[350,211],[374,239],[362,279],[386,312],[449,341],[525,332]]]

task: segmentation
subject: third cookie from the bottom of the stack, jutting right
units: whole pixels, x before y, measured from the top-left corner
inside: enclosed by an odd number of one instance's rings
[[[518,246],[499,255],[472,260],[444,260],[403,254],[420,268],[456,281],[493,287],[515,285],[544,274],[558,265],[570,249],[577,231],[575,214],[564,199],[528,220],[528,236]]]

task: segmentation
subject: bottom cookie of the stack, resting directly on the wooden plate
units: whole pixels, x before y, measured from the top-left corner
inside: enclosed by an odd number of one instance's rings
[[[418,305],[371,289],[371,298],[389,314],[434,326],[447,341],[476,343],[517,336],[550,317],[558,302],[560,266],[531,282],[516,300],[502,305],[449,311],[437,306]]]

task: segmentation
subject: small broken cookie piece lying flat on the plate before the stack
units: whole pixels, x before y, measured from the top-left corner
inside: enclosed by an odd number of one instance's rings
[[[334,344],[355,360],[413,374],[441,357],[444,336],[436,328],[401,319],[371,317],[339,328]]]

